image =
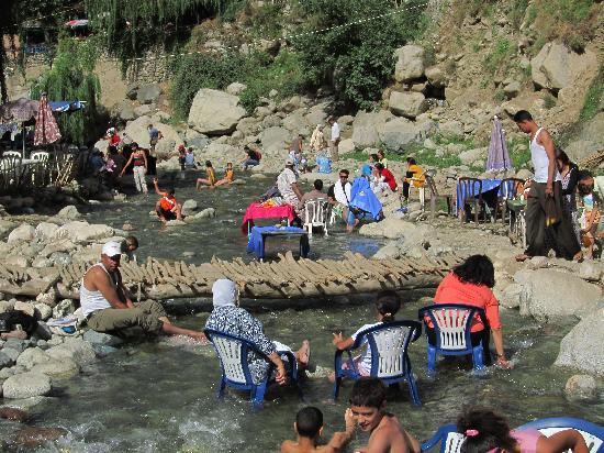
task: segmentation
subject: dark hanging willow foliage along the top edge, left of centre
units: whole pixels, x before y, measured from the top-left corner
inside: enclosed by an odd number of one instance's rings
[[[85,0],[93,30],[124,69],[132,58],[160,46],[170,49],[191,26],[237,0]]]

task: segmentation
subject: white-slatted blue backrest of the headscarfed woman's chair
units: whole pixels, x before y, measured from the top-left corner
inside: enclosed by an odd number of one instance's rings
[[[216,350],[224,377],[235,384],[253,384],[251,373],[247,363],[247,353],[254,351],[261,356],[265,354],[254,343],[241,336],[212,329],[205,329],[204,333]]]

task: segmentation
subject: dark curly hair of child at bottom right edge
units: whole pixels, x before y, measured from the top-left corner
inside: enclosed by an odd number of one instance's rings
[[[474,435],[468,435],[467,431]],[[473,407],[457,419],[457,432],[466,435],[460,453],[484,453],[492,449],[514,451],[516,440],[510,434],[505,419],[489,408]]]

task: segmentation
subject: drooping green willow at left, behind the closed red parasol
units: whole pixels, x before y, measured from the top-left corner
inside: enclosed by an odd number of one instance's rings
[[[40,99],[46,92],[49,101],[86,101],[85,109],[57,117],[63,137],[80,145],[87,144],[97,132],[97,103],[101,92],[99,78],[93,73],[97,57],[94,40],[64,37],[58,43],[53,67],[32,85],[32,99]]]

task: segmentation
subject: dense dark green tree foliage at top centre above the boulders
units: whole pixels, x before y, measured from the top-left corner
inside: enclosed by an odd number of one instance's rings
[[[307,34],[292,41],[307,69],[309,85],[333,82],[345,101],[370,108],[394,71],[394,49],[415,37],[423,26],[423,4],[411,0],[405,2],[405,11],[392,14],[389,0],[301,2]],[[378,20],[362,22],[382,14],[385,15]],[[328,30],[313,33],[321,29]]]

